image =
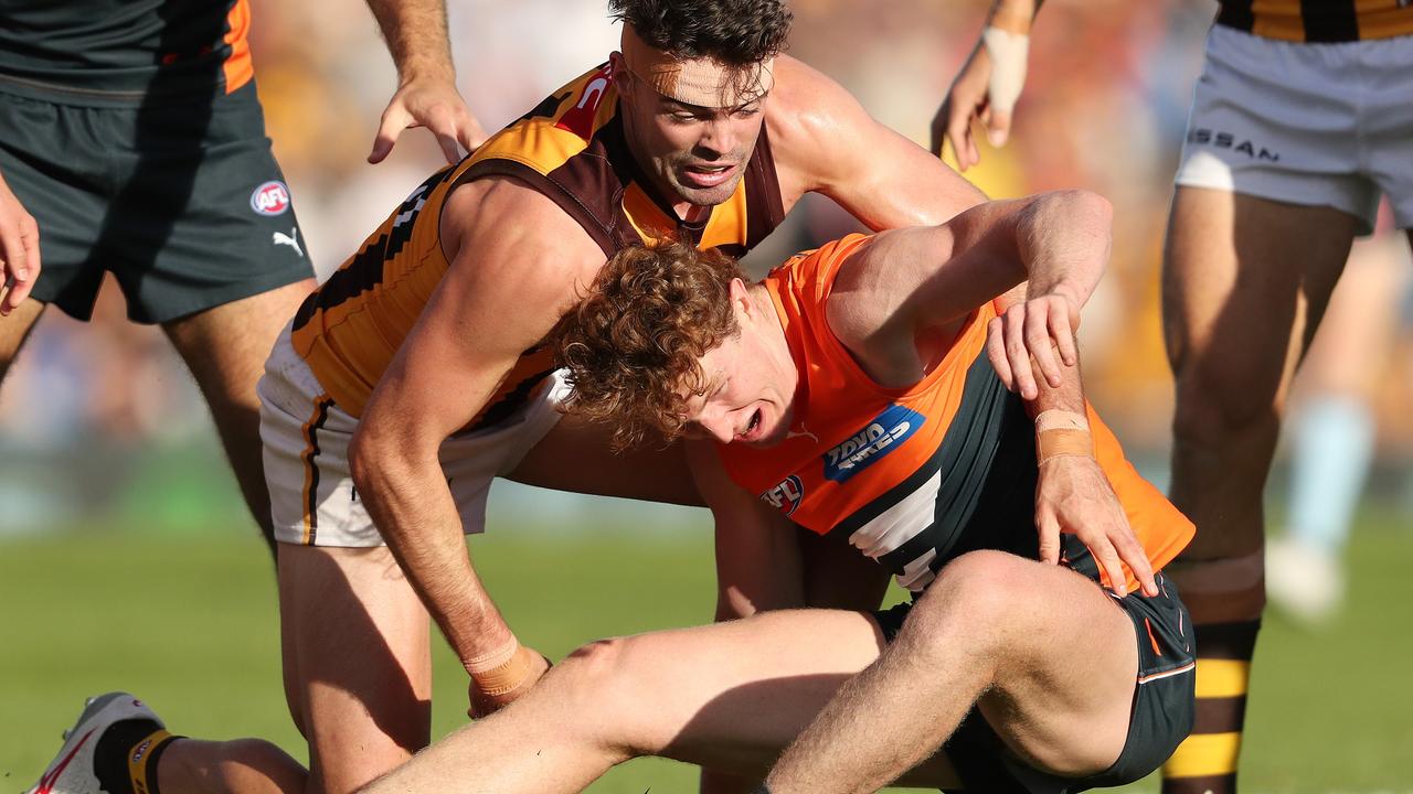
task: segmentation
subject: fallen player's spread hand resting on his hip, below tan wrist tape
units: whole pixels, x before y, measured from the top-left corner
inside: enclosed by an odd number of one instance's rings
[[[1133,534],[1109,478],[1094,458],[1058,455],[1040,465],[1036,528],[1040,531],[1041,562],[1057,565],[1060,533],[1071,533],[1089,547],[1115,593],[1128,595],[1123,572],[1123,565],[1128,565],[1143,593],[1157,595],[1153,565]]]

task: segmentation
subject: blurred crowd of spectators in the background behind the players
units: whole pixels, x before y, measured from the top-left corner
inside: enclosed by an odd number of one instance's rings
[[[790,52],[926,146],[986,6],[794,0]],[[487,130],[603,61],[617,42],[601,0],[448,0],[448,7],[459,86]],[[1112,266],[1084,315],[1085,376],[1091,400],[1159,482],[1171,417],[1157,309],[1163,227],[1215,8],[1210,0],[1051,0],[1036,28],[1010,143],[996,151],[982,143],[982,165],[966,174],[996,198],[1084,186],[1113,202]],[[253,14],[268,133],[324,277],[441,164],[439,151],[413,130],[387,162],[366,162],[396,75],[359,0],[254,0]],[[838,208],[812,201],[749,264],[759,273],[851,226]],[[1403,410],[1413,401],[1410,268],[1402,235],[1395,240],[1366,246],[1375,260],[1368,267],[1383,280],[1361,300],[1386,301],[1402,322],[1381,331],[1393,335],[1388,355],[1361,377],[1379,427],[1373,493],[1406,509],[1413,502],[1400,473],[1413,461],[1413,414]],[[90,325],[48,312],[4,384],[0,534],[97,520],[178,530],[240,520],[191,379],[161,332],[130,325],[116,298],[110,290]],[[496,510],[578,510],[569,504],[512,494]]]

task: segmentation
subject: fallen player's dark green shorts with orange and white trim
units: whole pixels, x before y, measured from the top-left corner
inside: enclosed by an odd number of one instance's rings
[[[1161,574],[1156,579],[1160,592],[1154,598],[1142,593],[1113,596],[1133,622],[1139,648],[1129,735],[1113,766],[1084,778],[1037,770],[1012,753],[974,708],[942,746],[962,778],[964,791],[1074,794],[1133,783],[1163,766],[1193,729],[1197,656],[1191,617],[1177,588]],[[900,603],[873,615],[885,639],[893,641],[911,608],[911,603]]]

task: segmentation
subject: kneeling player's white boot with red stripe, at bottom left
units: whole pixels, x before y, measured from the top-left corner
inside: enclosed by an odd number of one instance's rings
[[[103,739],[114,726],[122,733],[129,735],[147,735],[164,728],[162,721],[153,713],[153,709],[127,692],[109,692],[89,698],[78,722],[64,732],[65,742],[59,747],[59,754],[49,762],[49,767],[44,770],[40,781],[25,794],[97,794],[99,791],[116,794],[114,788],[122,788],[122,786],[105,786],[99,771],[102,764],[95,763],[100,756],[99,743],[105,745],[102,754],[106,754],[107,745],[113,745],[113,742],[103,742]],[[117,745],[124,745],[124,742],[119,737]],[[117,762],[123,764],[124,776],[126,760],[123,754],[129,746],[117,749]],[[102,777],[107,778],[109,776],[103,774]],[[126,783],[126,777],[123,783]]]

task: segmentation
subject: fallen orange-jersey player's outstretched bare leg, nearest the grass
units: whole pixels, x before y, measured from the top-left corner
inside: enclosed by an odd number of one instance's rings
[[[593,643],[524,698],[420,753],[369,794],[581,791],[643,754],[764,771],[882,644],[870,617],[829,610],[767,612]],[[931,787],[955,783],[945,757],[917,774]]]

